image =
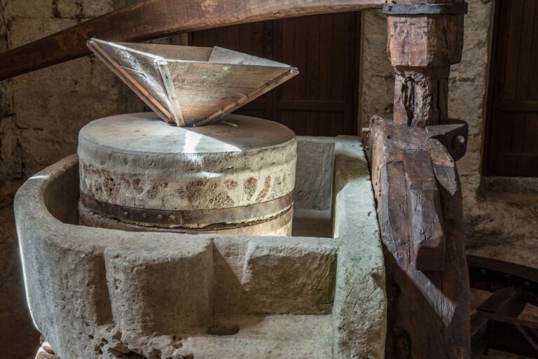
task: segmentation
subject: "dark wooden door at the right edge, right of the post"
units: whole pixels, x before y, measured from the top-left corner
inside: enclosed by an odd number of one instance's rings
[[[538,176],[538,1],[497,1],[484,173]]]

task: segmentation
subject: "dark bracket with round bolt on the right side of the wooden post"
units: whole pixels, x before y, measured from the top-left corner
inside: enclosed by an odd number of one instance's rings
[[[445,146],[450,156],[457,161],[467,152],[467,137],[469,125],[463,120],[449,119],[443,125],[426,126],[426,132],[430,139],[436,139]]]

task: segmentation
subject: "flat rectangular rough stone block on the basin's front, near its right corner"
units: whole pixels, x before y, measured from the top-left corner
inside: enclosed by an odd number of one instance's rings
[[[336,257],[336,249],[326,241],[250,241],[241,280],[249,298],[247,311],[330,313]]]

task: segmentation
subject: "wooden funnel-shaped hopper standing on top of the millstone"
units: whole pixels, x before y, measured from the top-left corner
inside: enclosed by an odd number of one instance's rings
[[[298,74],[225,48],[111,43],[88,47],[166,122],[207,125]]]

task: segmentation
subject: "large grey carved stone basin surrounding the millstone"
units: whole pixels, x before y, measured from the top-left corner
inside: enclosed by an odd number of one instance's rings
[[[20,188],[29,309],[61,359],[383,358],[385,268],[356,137],[298,137],[291,237],[78,225],[76,155]]]

